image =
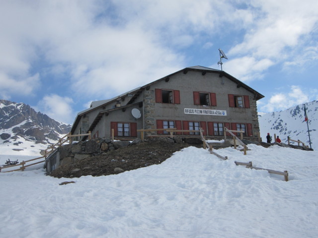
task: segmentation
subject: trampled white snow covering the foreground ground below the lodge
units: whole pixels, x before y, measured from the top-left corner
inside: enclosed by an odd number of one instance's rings
[[[43,164],[0,173],[1,237],[317,237],[318,153],[248,148],[245,156],[216,150],[228,156],[223,161],[188,147],[160,165],[112,176],[57,179],[45,176]],[[0,155],[0,164],[6,159]],[[234,161],[287,170],[290,180]]]

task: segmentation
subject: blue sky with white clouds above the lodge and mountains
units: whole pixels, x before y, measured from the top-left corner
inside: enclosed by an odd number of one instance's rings
[[[219,48],[259,112],[318,100],[317,0],[0,1],[0,36],[0,99],[67,123]]]

